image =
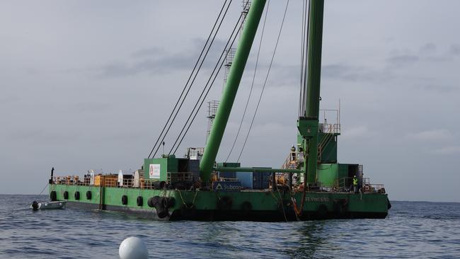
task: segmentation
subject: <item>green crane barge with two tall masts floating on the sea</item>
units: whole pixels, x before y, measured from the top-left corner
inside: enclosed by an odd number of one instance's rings
[[[303,19],[304,81],[297,145],[287,149],[289,155],[280,168],[216,161],[265,9],[265,0],[253,0],[243,16],[245,25],[222,98],[211,116],[205,148],[189,148],[185,157],[176,157],[175,151],[158,157],[154,157],[156,152],[149,154],[130,175],[88,172],[80,178],[52,173],[50,200],[67,200],[67,207],[121,211],[166,221],[385,218],[391,205],[384,185],[365,178],[360,164],[338,163],[340,120],[319,122],[324,1],[308,3],[308,15]],[[157,140],[154,149],[158,150],[161,142]]]

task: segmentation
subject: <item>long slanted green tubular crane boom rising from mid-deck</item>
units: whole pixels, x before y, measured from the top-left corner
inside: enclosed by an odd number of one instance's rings
[[[243,76],[244,67],[246,67],[264,7],[265,0],[253,0],[251,8],[249,8],[243,32],[241,33],[241,39],[231,64],[229,76],[227,77],[224,93],[222,94],[219,108],[217,108],[209,138],[207,139],[205,153],[200,162],[200,176],[205,183],[208,182],[212,173],[212,166],[214,166],[214,161],[216,160],[217,152],[224,136],[226,123],[229,120],[231,108],[234,104],[236,92],[238,91],[241,76]]]

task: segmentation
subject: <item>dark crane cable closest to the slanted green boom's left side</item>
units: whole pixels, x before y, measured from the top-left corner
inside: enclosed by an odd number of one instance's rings
[[[247,5],[248,5],[248,3],[246,3],[246,6],[247,6]],[[246,7],[246,6],[245,6],[245,7]],[[240,17],[238,18],[238,21],[236,22],[236,25],[235,25],[235,27],[234,27],[234,30],[231,32],[231,35],[230,35],[230,37],[229,37],[229,40],[227,40],[226,45],[225,45],[225,47],[224,47],[224,50],[222,50],[222,53],[221,53],[221,55],[220,55],[220,57],[219,57],[219,59],[218,59],[218,61],[217,61],[216,66],[214,67],[214,69],[213,69],[213,71],[212,71],[212,73],[211,73],[211,76],[209,76],[209,79],[208,79],[208,81],[207,81],[205,87],[203,88],[203,90],[202,90],[202,92],[201,92],[201,94],[200,94],[200,97],[199,97],[198,100],[197,100],[197,103],[195,103],[195,106],[193,107],[192,111],[190,112],[190,115],[188,116],[187,121],[186,121],[185,124],[183,125],[183,128],[180,130],[180,133],[178,134],[178,137],[176,138],[176,141],[174,142],[173,146],[171,147],[171,150],[168,152],[168,155],[170,155],[171,153],[172,153],[172,154],[176,154],[176,151],[177,151],[178,147],[179,147],[180,144],[182,143],[182,141],[183,141],[185,135],[188,133],[188,129],[190,129],[190,126],[192,125],[193,121],[195,120],[195,117],[196,117],[198,111],[200,110],[200,108],[201,108],[203,102],[205,101],[205,98],[207,97],[209,91],[211,90],[211,88],[212,88],[212,86],[213,86],[213,84],[214,84],[214,81],[216,80],[216,78],[217,78],[217,76],[218,76],[218,74],[219,74],[220,69],[222,69],[222,66],[223,66],[223,64],[224,64],[224,62],[225,62],[225,59],[226,59],[227,55],[228,55],[228,52],[226,52],[226,49],[229,47],[229,45],[230,45],[230,47],[233,46],[233,44],[234,44],[234,42],[235,42],[235,40],[236,40],[236,37],[238,36],[238,31],[239,31],[239,29],[241,28],[241,26],[243,25],[243,23],[241,23],[241,25],[240,25],[241,18],[243,18],[243,21],[244,21],[244,19],[246,19],[246,16],[243,16],[243,13],[241,13]],[[238,26],[238,25],[239,25],[239,26]],[[237,29],[238,29],[238,30],[237,30]],[[236,33],[235,33],[235,32],[236,32]],[[233,38],[233,40],[232,40],[232,38]],[[231,41],[231,42],[230,42],[230,41]],[[224,57],[224,59],[222,59],[222,57]],[[219,63],[221,63],[221,59],[222,59],[222,64],[220,64],[220,66],[219,66]],[[217,69],[217,67],[219,67],[219,69]],[[214,72],[216,71],[216,69],[217,69],[217,73],[214,74]],[[213,76],[214,76],[214,79],[212,79]],[[211,81],[211,80],[212,80],[212,81]],[[211,82],[210,85],[209,85],[209,82]],[[208,87],[208,86],[209,86],[209,87]],[[205,93],[205,91],[206,91],[206,93]],[[204,96],[204,98],[202,98],[202,96],[203,96],[204,93],[205,93],[205,96]],[[201,102],[200,102],[200,99],[201,99]],[[198,103],[200,103],[200,105],[199,105],[198,108],[197,108]],[[195,115],[193,115],[193,113],[195,113]],[[192,115],[193,115],[193,117],[192,117]],[[190,118],[191,118],[191,120],[190,120]],[[190,123],[189,123],[189,122],[190,122]],[[188,126],[187,126],[187,125],[188,125]],[[185,129],[185,127],[187,127],[187,129]],[[184,130],[185,130],[185,132],[184,132]],[[181,137],[181,135],[182,135],[182,137]],[[179,139],[180,139],[180,140],[179,140]],[[176,144],[177,144],[177,145],[176,145]],[[176,146],[176,148],[175,148],[175,146]],[[174,151],[173,151],[173,149],[174,149]]]

